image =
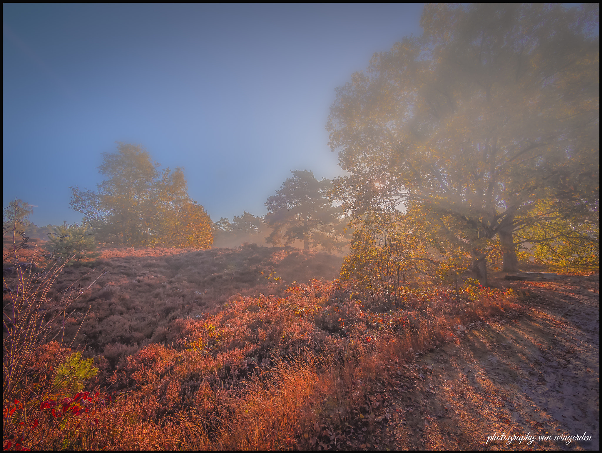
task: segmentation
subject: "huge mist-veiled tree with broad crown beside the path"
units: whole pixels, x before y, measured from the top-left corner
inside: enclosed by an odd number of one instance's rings
[[[598,22],[592,4],[427,5],[423,36],[337,90],[338,199],[356,217],[421,205],[482,282],[495,248],[517,270],[529,225],[599,224]]]

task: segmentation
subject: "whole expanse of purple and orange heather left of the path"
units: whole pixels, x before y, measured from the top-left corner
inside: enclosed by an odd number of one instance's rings
[[[48,389],[11,393],[5,443],[357,448],[346,443],[350,426],[373,430],[391,416],[376,386],[399,388],[399,370],[464,325],[518,307],[512,291],[422,284],[407,289],[405,310],[384,311],[353,281],[311,278],[336,276],[332,255],[254,245],[178,252],[105,249],[92,269],[60,265],[40,307],[59,302],[62,316],[48,319],[54,337],[32,345],[36,360],[25,363],[28,385]],[[7,287],[43,273],[42,262],[5,276]],[[5,293],[5,307],[15,295]],[[52,385],[57,376],[70,384]]]

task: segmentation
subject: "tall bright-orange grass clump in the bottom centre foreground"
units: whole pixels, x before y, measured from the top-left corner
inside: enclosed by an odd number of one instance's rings
[[[252,375],[242,389],[219,402],[217,416],[194,410],[178,416],[182,448],[190,450],[273,450],[292,448],[314,430],[312,405],[332,382],[311,355]]]

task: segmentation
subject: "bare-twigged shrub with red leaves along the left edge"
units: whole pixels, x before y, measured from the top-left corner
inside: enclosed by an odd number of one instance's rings
[[[34,267],[42,261],[35,254],[30,263],[23,263],[19,258],[26,243],[17,242],[20,233],[17,222],[13,224],[13,247],[4,254],[13,272],[3,278],[2,445],[3,449],[19,450],[67,448],[77,438],[76,431],[85,429],[81,417],[101,401],[98,393],[95,398],[88,398],[89,392],[85,396],[81,392],[57,393],[69,390],[60,376],[57,381],[68,356],[75,360],[78,371],[84,372],[88,364],[80,363],[81,353],[74,358],[69,348],[52,341],[61,333],[64,336],[65,321],[73,313],[70,306],[85,290],[71,284],[55,295],[58,276],[72,255],[66,260],[48,260],[42,269]],[[95,281],[90,286],[93,284]],[[72,375],[67,370],[64,376],[69,376],[69,387],[82,387],[81,373]],[[57,389],[55,383],[62,388]]]

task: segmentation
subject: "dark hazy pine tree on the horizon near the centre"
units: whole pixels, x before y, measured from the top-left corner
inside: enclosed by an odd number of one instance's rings
[[[313,172],[306,170],[291,170],[291,173],[293,177],[265,202],[270,211],[265,222],[272,228],[266,242],[276,244],[285,239],[289,245],[301,240],[305,250],[310,246],[340,250],[346,243],[344,213],[330,201],[331,181],[325,178],[318,181]]]

